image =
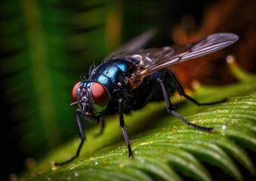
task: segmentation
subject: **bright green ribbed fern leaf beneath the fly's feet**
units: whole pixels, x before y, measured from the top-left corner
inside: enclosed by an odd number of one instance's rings
[[[218,174],[235,180],[248,175],[252,178],[255,169],[250,153],[256,152],[254,79],[225,87],[198,87],[193,95],[204,102],[227,97],[224,103],[198,107],[186,100],[175,104],[180,115],[194,124],[214,127],[215,133],[189,127],[166,115],[165,103],[152,103],[125,116],[134,159],[128,159],[119,118],[113,117],[101,137],[94,138],[97,127],[85,130],[88,142],[71,164],[50,166],[51,161],[70,158],[79,139],[49,153],[25,176],[40,172],[43,174],[32,180],[214,180]],[[116,142],[120,143],[113,144]]]

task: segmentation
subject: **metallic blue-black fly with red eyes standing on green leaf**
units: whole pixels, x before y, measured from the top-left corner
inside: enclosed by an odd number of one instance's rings
[[[199,130],[215,131],[213,127],[202,127],[190,123],[175,112],[168,95],[177,90],[180,96],[198,106],[221,103],[225,99],[213,103],[199,103],[185,94],[184,88],[168,68],[225,48],[237,41],[239,37],[233,33],[216,33],[189,44],[134,50],[145,44],[152,35],[152,31],[144,33],[137,38],[137,41],[111,54],[103,63],[91,66],[88,79],[82,78],[74,85],[71,105],[79,106],[76,109],[76,123],[81,142],[76,155],[55,165],[67,164],[79,157],[86,140],[80,117],[85,118],[86,121],[96,120],[101,126],[100,133],[102,133],[105,125],[103,118],[107,115],[119,114],[119,125],[128,147],[128,157],[133,158],[123,115],[142,109],[150,102],[165,100],[168,113],[187,125]]]

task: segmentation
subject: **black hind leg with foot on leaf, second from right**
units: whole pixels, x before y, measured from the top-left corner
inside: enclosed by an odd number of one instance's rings
[[[164,97],[165,97],[165,103],[166,103],[166,108],[167,108],[168,113],[171,113],[171,115],[176,116],[181,121],[184,121],[184,123],[186,123],[187,125],[189,125],[191,127],[195,127],[196,129],[199,129],[199,130],[206,130],[206,131],[209,131],[209,132],[215,132],[214,128],[212,128],[212,127],[202,127],[202,126],[190,123],[190,121],[187,121],[187,119],[185,119],[182,115],[180,115],[179,113],[175,112],[172,109],[171,100],[168,97],[168,93],[167,93],[167,90],[165,88],[165,84],[162,82],[162,80],[160,78],[158,78],[157,81],[159,81],[159,84],[161,85],[162,94],[164,94]]]

